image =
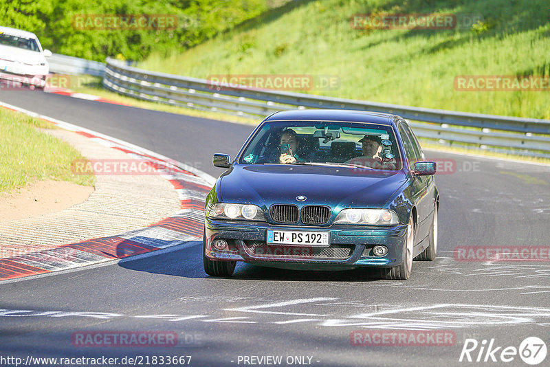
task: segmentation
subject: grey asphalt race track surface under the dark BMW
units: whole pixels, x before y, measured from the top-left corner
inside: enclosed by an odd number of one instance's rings
[[[34,91],[1,91],[0,100],[216,177],[222,170],[211,166],[212,153],[234,156],[252,131],[247,125]],[[550,167],[426,153],[454,162],[454,168],[436,176],[438,258],[415,262],[406,282],[377,280],[365,271],[300,272],[243,264],[232,278],[210,278],[203,272],[199,243],[190,243],[106,266],[0,283],[0,357],[186,355],[192,356],[191,366],[250,366],[243,356],[271,355],[283,357],[282,366],[304,365],[287,360],[294,356],[307,356],[305,363],[311,357],[311,366],[528,366],[518,355],[503,363],[500,352],[518,348],[531,336],[550,346],[550,262],[456,261],[453,251],[548,246]],[[373,329],[451,330],[456,342],[351,343],[353,331]],[[74,346],[72,336],[87,331],[166,331],[177,333],[178,343]],[[480,346],[494,339],[494,347],[503,347],[494,354],[498,362],[490,357],[483,362],[485,353],[481,362],[459,362],[468,338]],[[474,361],[479,351],[472,351]],[[142,362],[159,365],[159,360]],[[13,365],[1,359],[0,364]],[[538,366],[549,365],[550,356]]]

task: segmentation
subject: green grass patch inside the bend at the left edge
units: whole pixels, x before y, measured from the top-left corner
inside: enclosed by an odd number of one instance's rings
[[[36,129],[52,126],[23,113],[0,109],[0,192],[47,179],[94,186],[94,175],[72,173],[72,162],[85,159],[75,148]]]

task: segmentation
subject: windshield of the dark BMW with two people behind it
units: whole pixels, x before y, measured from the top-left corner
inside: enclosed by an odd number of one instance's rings
[[[331,121],[266,122],[245,147],[239,163],[402,168],[391,126]]]

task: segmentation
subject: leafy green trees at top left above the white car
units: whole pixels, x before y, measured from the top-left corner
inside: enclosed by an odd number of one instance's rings
[[[36,33],[52,52],[103,61],[106,56],[143,60],[197,45],[267,10],[265,0],[0,0],[0,25]],[[91,30],[75,16],[176,16],[175,29]]]

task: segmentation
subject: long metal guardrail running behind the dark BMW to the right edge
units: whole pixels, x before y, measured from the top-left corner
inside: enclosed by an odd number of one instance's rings
[[[137,69],[111,58],[107,58],[103,85],[111,91],[142,100],[256,119],[287,109],[394,113],[413,120],[410,125],[419,138],[436,140],[439,144],[475,144],[485,150],[550,157],[550,120],[423,109],[285,91],[257,91],[246,87],[225,89],[208,80]]]

